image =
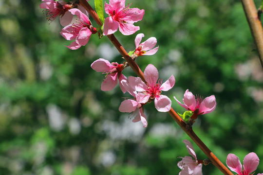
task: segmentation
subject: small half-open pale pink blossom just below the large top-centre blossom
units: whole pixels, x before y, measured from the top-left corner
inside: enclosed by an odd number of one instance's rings
[[[156,45],[157,39],[155,37],[150,37],[140,44],[142,37],[144,37],[144,34],[138,34],[135,37],[136,50],[134,54],[136,55],[136,57],[142,55],[153,55],[154,53],[156,53],[159,49],[159,46],[155,47],[154,49],[152,48]]]

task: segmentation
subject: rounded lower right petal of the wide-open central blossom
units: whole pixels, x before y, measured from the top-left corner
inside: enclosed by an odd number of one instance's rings
[[[155,97],[154,105],[159,112],[168,112],[171,109],[171,100],[166,95],[159,95]]]

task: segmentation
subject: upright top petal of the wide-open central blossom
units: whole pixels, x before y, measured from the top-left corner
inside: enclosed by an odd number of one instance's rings
[[[144,70],[144,78],[147,83],[154,86],[159,78],[158,70],[152,64],[149,64]]]

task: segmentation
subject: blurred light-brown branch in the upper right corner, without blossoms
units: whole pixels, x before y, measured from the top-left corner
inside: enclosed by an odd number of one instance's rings
[[[251,34],[254,38],[255,44],[258,49],[259,59],[263,68],[263,28],[261,20],[258,17],[258,11],[256,9],[253,0],[241,0],[246,20],[250,27]]]

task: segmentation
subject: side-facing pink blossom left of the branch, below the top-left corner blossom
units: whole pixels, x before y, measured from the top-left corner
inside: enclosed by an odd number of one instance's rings
[[[62,29],[60,34],[67,40],[75,40],[71,45],[67,46],[69,49],[76,50],[81,46],[85,46],[91,35],[96,33],[96,28],[91,24],[90,19],[86,14],[82,13],[79,9],[71,9],[69,12],[76,15],[79,19]]]

